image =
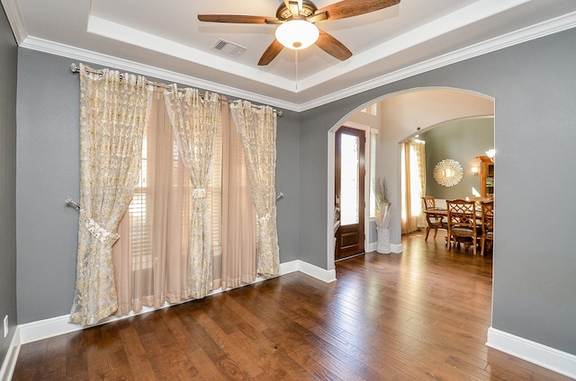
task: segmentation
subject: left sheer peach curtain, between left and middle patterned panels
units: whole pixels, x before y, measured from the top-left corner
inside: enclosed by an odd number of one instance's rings
[[[188,297],[192,184],[156,89],[141,155],[139,184],[112,248],[119,314]]]

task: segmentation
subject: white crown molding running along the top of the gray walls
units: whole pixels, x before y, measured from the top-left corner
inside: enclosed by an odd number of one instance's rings
[[[341,91],[329,93],[310,102],[295,103],[286,102],[284,100],[269,97],[259,93],[248,92],[239,89],[238,87],[233,87],[226,84],[219,84],[202,80],[201,78],[193,77],[190,75],[175,73],[160,67],[148,66],[138,62],[116,58],[109,55],[103,55],[98,52],[86,49],[78,49],[57,42],[41,40],[33,36],[28,36],[26,27],[23,22],[22,13],[18,7],[17,2],[14,0],[1,1],[4,6],[4,11],[7,15],[8,21],[10,22],[10,25],[14,31],[14,37],[16,38],[16,41],[20,47],[43,51],[67,58],[85,60],[94,63],[95,65],[112,66],[119,70],[135,72],[141,75],[154,76],[168,82],[175,82],[178,84],[202,88],[207,91],[223,93],[231,97],[238,97],[241,99],[250,100],[252,102],[269,104],[279,109],[296,112],[308,111],[315,107],[356,95],[357,93],[364,93],[365,91],[372,90],[385,84],[392,84],[393,82],[400,81],[401,79],[405,79],[413,75],[419,75],[439,67],[448,66],[456,62],[464,61],[468,58],[482,56],[483,54],[491,53],[499,49],[505,49],[510,46],[526,42],[528,40],[536,40],[540,37],[544,37],[546,35],[554,34],[560,31],[565,31],[576,26],[576,13],[568,13],[552,20],[529,26],[522,30],[513,31],[491,40],[486,40],[474,44],[464,49],[455,50],[437,58],[428,59],[427,61],[422,61],[418,64],[404,67],[392,73],[381,75],[371,80],[365,81],[364,83],[349,86],[345,89],[342,89]]]

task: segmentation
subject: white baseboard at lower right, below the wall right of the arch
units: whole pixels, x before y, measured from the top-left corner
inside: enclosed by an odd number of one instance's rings
[[[492,327],[486,346],[576,379],[576,356]]]

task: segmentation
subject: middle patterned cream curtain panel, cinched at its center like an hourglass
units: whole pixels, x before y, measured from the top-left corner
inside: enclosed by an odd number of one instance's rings
[[[211,289],[211,236],[207,213],[207,191],[214,137],[220,111],[220,96],[198,90],[178,92],[175,84],[166,94],[166,109],[174,128],[180,155],[193,184],[193,213],[190,221],[188,291],[192,298],[208,295]]]

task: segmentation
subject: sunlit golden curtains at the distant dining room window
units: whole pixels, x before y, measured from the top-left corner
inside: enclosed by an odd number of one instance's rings
[[[402,234],[421,226],[422,199],[426,193],[426,155],[424,142],[409,140],[401,145]]]

